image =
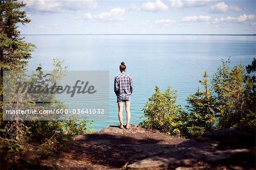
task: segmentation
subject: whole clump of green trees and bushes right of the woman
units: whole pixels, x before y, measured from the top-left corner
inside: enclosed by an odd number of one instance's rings
[[[142,109],[146,120],[141,125],[188,138],[220,128],[255,132],[255,59],[246,68],[230,68],[230,59],[222,60],[211,79],[205,71],[199,82],[203,90],[188,96],[185,111],[176,105],[176,91],[161,93],[156,87]]]

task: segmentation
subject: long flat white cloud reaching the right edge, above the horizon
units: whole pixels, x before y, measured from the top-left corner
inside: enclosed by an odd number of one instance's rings
[[[252,14],[252,15],[246,15],[246,14],[243,14],[243,15],[240,15],[238,16],[237,18],[236,17],[233,17],[233,16],[228,16],[226,18],[216,18],[213,20],[213,23],[216,24],[216,23],[246,23],[248,22],[249,20],[253,20],[255,18],[255,15]]]

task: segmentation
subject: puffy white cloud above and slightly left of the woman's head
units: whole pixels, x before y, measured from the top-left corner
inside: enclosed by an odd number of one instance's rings
[[[94,18],[102,21],[122,21],[122,20],[125,20],[123,18],[124,14],[125,14],[125,9],[121,9],[120,7],[117,7],[115,9],[112,9],[109,12],[94,15]]]

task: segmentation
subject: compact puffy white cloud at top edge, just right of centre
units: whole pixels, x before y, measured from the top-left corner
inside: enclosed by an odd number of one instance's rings
[[[152,12],[165,12],[168,10],[168,6],[165,5],[162,1],[156,0],[155,2],[146,2],[141,6],[142,11],[152,11]]]

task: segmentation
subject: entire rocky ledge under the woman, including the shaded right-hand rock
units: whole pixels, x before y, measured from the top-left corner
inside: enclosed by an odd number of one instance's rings
[[[73,136],[58,157],[41,161],[54,169],[255,169],[255,135],[233,129],[195,139],[131,125],[108,126]]]

